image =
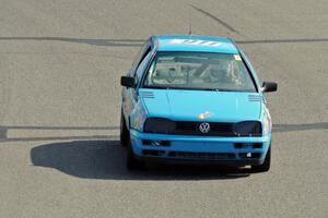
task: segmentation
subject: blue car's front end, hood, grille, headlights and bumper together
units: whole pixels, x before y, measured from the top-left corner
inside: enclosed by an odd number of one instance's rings
[[[271,118],[261,95],[144,89],[140,96],[134,113],[138,122],[132,117],[130,129],[137,158],[230,166],[263,164],[271,142]]]

